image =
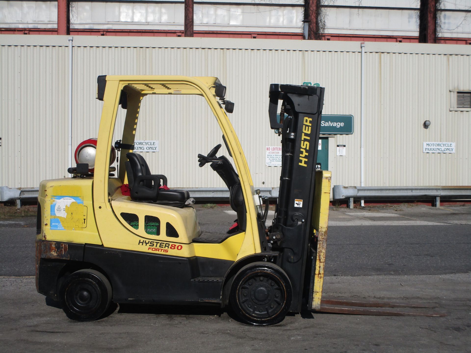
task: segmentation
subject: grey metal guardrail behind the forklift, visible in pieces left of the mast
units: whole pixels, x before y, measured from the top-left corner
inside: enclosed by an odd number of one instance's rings
[[[184,188],[190,193],[196,201],[227,201],[229,200],[229,190],[226,187],[199,187],[199,188]],[[269,200],[274,200],[278,197],[278,187],[260,187],[260,195],[267,196]],[[21,206],[21,200],[38,198],[39,188],[9,188],[8,186],[0,186],[0,202],[16,200],[16,206]]]

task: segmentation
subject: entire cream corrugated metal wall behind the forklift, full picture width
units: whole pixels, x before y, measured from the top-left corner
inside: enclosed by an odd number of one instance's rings
[[[1,36],[0,185],[37,186],[67,169],[67,37]],[[471,112],[449,111],[449,90],[471,90],[466,46],[366,43],[365,185],[470,185]],[[235,102],[229,115],[254,185],[275,187],[280,167],[265,166],[265,147],[280,144],[269,129],[270,83],[319,82],[325,114],[352,114],[354,134],[329,138],[333,185],[360,182],[359,43],[289,40],[75,37],[73,147],[97,136],[102,74],[217,76]],[[123,112],[117,126],[121,128]],[[197,154],[222,143],[201,97],[146,97],[138,139],[159,140],[144,153],[171,187],[223,186]],[[430,120],[430,128],[422,123]],[[115,139],[120,138],[115,133]],[[422,153],[422,143],[455,142],[454,154]],[[336,156],[336,144],[347,155]],[[225,147],[221,149],[226,155]]]

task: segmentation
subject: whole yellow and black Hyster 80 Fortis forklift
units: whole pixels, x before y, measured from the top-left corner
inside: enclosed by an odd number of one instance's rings
[[[227,233],[201,232],[188,191],[169,189],[167,178],[152,174],[133,152],[141,101],[169,94],[203,96],[221,128],[234,165],[217,156],[221,144],[197,159],[230,190],[237,222]],[[282,136],[283,156],[268,227],[268,200],[253,187],[226,115],[234,104],[225,96],[215,77],[98,77],[103,112],[95,145],[81,145],[82,158],[69,168],[73,177],[42,181],[38,198],[36,289],[59,301],[69,318],[99,319],[111,301],[230,305],[254,325],[276,324],[303,309],[347,312],[338,305],[349,302],[321,300],[331,176],[316,172],[324,88],[270,85],[269,121]],[[120,109],[126,109],[124,128],[113,146]]]

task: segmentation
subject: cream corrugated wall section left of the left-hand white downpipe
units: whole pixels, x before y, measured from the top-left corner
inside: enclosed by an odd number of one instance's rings
[[[65,176],[67,48],[0,47],[0,67],[0,185]]]

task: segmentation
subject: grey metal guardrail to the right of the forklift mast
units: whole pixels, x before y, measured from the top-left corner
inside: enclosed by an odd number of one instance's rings
[[[333,200],[349,199],[349,208],[357,200],[471,200],[471,186],[343,186],[333,185]]]

